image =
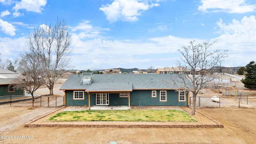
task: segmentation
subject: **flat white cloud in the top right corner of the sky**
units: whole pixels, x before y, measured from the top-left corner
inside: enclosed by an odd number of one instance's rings
[[[256,11],[256,4],[247,4],[246,0],[201,0],[201,3],[202,6],[198,6],[198,10],[202,12],[242,14]]]

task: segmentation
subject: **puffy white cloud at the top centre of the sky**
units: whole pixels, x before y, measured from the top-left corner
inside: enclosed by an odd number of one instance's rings
[[[159,6],[157,3],[150,3],[144,0],[114,0],[112,4],[102,5],[100,10],[102,10],[110,23],[116,22],[118,20],[134,22],[138,20],[137,16],[140,16],[142,12],[154,7]]]

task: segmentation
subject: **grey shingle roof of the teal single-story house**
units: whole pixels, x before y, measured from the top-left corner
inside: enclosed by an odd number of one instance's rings
[[[81,75],[80,77],[77,74],[71,75],[60,90],[132,91],[135,89],[187,89],[178,74],[94,74],[92,83],[87,85],[82,85],[81,79]],[[187,78],[185,78],[185,83],[186,86],[192,88]]]

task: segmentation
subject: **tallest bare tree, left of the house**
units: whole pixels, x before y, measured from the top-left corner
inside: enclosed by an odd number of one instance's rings
[[[70,63],[70,40],[66,21],[58,19],[54,26],[42,25],[28,37],[28,50],[40,59],[41,70],[46,74],[44,82],[50,90],[50,96],[53,95],[55,82]]]

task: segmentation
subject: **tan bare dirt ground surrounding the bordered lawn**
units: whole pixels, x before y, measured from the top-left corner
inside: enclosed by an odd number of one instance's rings
[[[40,93],[48,93],[46,90],[41,89]],[[62,91],[59,93],[54,91],[54,94],[63,95]],[[31,120],[56,109],[58,108],[0,105],[0,143],[254,144],[256,142],[256,109],[254,108],[197,108],[198,112],[224,124],[224,128],[24,127],[24,124]]]

